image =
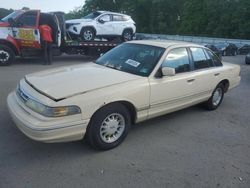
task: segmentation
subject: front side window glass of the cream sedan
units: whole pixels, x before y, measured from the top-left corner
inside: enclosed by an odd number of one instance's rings
[[[175,69],[175,73],[190,71],[190,62],[186,48],[176,48],[171,50],[162,67],[171,67]]]

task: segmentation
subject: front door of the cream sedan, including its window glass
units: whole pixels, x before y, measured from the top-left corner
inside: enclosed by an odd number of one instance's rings
[[[190,105],[195,95],[195,79],[186,48],[172,49],[162,67],[175,69],[174,76],[150,78],[151,97],[149,118],[163,115]]]

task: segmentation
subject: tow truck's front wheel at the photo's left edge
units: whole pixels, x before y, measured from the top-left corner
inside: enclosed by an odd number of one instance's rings
[[[8,66],[11,65],[15,57],[14,51],[6,46],[0,45],[0,66]]]

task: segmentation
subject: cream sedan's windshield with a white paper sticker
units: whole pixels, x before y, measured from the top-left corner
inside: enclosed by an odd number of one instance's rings
[[[97,59],[96,63],[119,71],[149,76],[165,48],[142,44],[121,44]]]

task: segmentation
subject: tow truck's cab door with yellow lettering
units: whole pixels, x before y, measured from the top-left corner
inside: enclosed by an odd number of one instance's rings
[[[40,11],[27,11],[16,20],[13,36],[21,48],[41,48],[39,33]]]

